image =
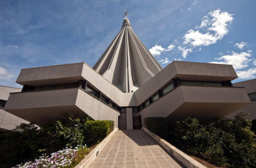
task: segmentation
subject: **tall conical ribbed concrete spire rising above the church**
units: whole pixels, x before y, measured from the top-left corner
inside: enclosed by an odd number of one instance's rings
[[[163,68],[124,18],[120,32],[93,69],[122,91],[132,92]]]

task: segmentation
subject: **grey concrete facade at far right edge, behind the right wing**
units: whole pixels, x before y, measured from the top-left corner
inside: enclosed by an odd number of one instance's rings
[[[245,87],[246,93],[252,94],[256,92],[256,79],[233,83],[233,86]],[[247,114],[246,116],[244,116],[244,118],[251,119],[251,120],[256,119],[256,101],[252,100],[250,104],[227,115],[227,117],[233,118],[235,115],[239,114],[240,112],[244,112],[244,114]]]

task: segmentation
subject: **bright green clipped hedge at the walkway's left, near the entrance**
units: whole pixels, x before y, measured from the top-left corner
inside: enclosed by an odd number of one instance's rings
[[[100,142],[114,130],[113,121],[87,121],[85,123],[86,144],[91,146]]]

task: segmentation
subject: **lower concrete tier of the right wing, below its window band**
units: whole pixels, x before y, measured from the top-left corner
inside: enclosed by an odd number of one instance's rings
[[[175,122],[185,117],[212,121],[250,103],[244,88],[179,86],[139,112],[144,117],[167,117]],[[142,123],[144,126],[144,123]]]

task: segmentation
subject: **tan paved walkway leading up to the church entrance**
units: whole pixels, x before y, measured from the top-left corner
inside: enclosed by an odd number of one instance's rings
[[[185,167],[144,130],[118,130],[90,167]]]

